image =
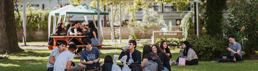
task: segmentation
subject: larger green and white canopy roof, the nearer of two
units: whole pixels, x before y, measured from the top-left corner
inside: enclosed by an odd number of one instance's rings
[[[97,15],[97,9],[94,7],[90,7],[89,5],[78,5],[72,9],[68,9],[66,11],[60,12],[59,15],[81,15],[81,14],[90,14]],[[100,15],[108,15],[108,12],[99,10]]]

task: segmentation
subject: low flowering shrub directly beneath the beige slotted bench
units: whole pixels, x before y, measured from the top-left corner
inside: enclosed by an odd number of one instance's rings
[[[181,42],[185,41],[185,39],[178,39],[178,38],[157,38],[157,42],[155,44],[160,45],[162,40],[167,41],[168,46],[179,46],[181,45]]]

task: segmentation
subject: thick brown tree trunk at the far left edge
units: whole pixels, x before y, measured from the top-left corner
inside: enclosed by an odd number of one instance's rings
[[[0,54],[24,51],[18,46],[13,0],[0,0]]]

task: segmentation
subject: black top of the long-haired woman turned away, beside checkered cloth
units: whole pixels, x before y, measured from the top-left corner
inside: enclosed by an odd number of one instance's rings
[[[155,55],[157,55],[157,54],[155,53]],[[158,56],[158,55],[157,55],[157,56]],[[161,63],[161,60],[159,59],[159,57],[156,57],[156,58],[157,58],[157,59],[152,59],[149,53],[147,53],[147,54],[143,57],[143,59],[148,59],[148,60],[152,60],[152,61],[156,62],[156,63],[158,64],[158,71],[165,70],[165,69],[164,69],[164,66],[163,66],[162,63]]]

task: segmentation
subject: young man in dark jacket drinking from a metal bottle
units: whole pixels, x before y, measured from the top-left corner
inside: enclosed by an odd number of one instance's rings
[[[128,41],[128,46],[129,48],[122,51],[121,54],[119,55],[119,60],[124,56],[124,55],[127,55],[127,59],[126,59],[126,63],[129,68],[132,68],[133,66],[131,65],[131,63],[134,63],[134,64],[141,64],[141,52],[138,51],[136,48],[136,41],[135,40],[129,40]],[[121,65],[120,65],[121,66]],[[122,67],[121,67],[122,68]]]

